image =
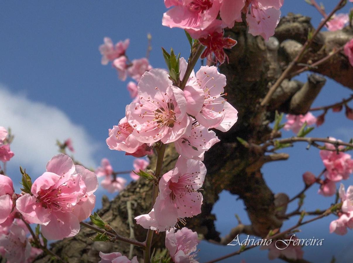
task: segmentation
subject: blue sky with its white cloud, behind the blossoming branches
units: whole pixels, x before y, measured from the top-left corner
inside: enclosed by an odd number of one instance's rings
[[[331,0],[322,1],[328,11],[334,7]],[[111,151],[106,146],[108,129],[124,115],[130,103],[126,82],[118,80],[110,65],[102,66],[98,46],[103,37],[114,42],[130,38],[127,54],[130,59],[144,57],[147,33],[152,35],[150,63],[164,68],[160,47],[173,47],[182,56],[189,56],[189,44],[180,29],[162,26],[165,7],[162,1],[1,1],[0,3],[0,126],[12,127],[17,138],[13,143],[15,157],[8,164],[8,174],[19,181],[18,165],[27,167],[33,178],[41,175],[46,162],[56,153],[55,139],[72,137],[75,156],[94,167],[100,159],[110,159],[115,170],[132,167],[132,157]],[[342,10],[348,12],[352,3]],[[301,13],[312,17],[313,25],[321,20],[320,14],[304,1],[285,0],[282,14]],[[196,68],[197,69],[197,68]],[[298,79],[305,81],[306,74]],[[314,106],[327,105],[348,97],[345,87],[328,80]],[[317,115],[317,114],[316,114]],[[341,113],[329,112],[323,126],[312,132],[313,136],[334,136],[348,141],[353,134],[352,122]],[[292,136],[284,132],[283,136]],[[318,150],[305,149],[298,143],[285,149],[288,161],[267,164],[263,167],[265,180],[273,192],[297,194],[303,187],[301,175],[305,171],[318,174],[322,161]],[[346,187],[352,179],[344,182]],[[18,184],[17,184],[18,186]],[[18,190],[18,188],[17,188]],[[317,195],[317,186],[307,192],[304,208],[326,208],[333,198]],[[98,192],[100,200],[104,191]],[[112,195],[109,195],[112,198]],[[96,207],[100,207],[97,202]],[[295,208],[295,203],[292,208]],[[224,192],[216,203],[216,227],[222,235],[237,224],[237,213],[243,222],[249,222],[244,204],[237,196]],[[352,232],[344,237],[328,234],[333,216],[304,226],[300,238],[325,238],[321,247],[305,247],[305,258],[329,262],[336,255],[338,262],[345,249],[352,248]],[[296,220],[285,222],[284,227]],[[200,262],[225,253],[235,247],[221,247],[202,242]],[[349,255],[348,255],[349,256]],[[352,256],[352,255],[350,255]],[[267,251],[253,249],[224,262],[266,262]],[[276,261],[274,261],[276,262]]]

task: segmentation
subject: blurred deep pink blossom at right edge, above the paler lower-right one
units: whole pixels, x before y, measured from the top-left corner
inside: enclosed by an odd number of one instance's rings
[[[330,137],[330,140],[336,140]],[[334,150],[335,146],[331,143],[325,143],[326,149]],[[342,148],[339,147],[339,149]],[[321,150],[320,157],[326,167],[325,176],[333,182],[348,179],[353,172],[353,160],[350,154],[344,152]]]

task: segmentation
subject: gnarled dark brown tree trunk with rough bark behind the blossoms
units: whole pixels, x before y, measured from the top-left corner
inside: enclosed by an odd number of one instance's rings
[[[228,52],[230,63],[223,64],[220,71],[227,76],[227,99],[238,109],[239,119],[228,133],[216,131],[221,142],[207,152],[204,160],[208,172],[204,183],[202,213],[187,220],[187,227],[202,234],[206,240],[226,244],[237,233],[264,237],[271,229],[282,225],[280,214],[285,210],[276,212],[276,206],[288,201],[288,196],[271,192],[262,176],[261,167],[269,161],[285,160],[289,155],[265,156],[258,147],[244,147],[236,137],[250,143],[263,143],[273,136],[268,124],[274,120],[275,110],[298,114],[306,113],[309,109],[325,82],[319,75],[311,75],[306,84],[286,79],[265,109],[259,106],[259,101],[297,54],[310,29],[312,25],[309,17],[288,14],[281,19],[275,38],[271,38],[268,43],[265,43],[262,37],[249,35],[243,23],[236,24],[232,30],[226,32],[237,39],[238,44]],[[336,32],[319,33],[300,62],[315,62],[352,37],[353,31],[348,27]],[[299,68],[294,68],[293,72]],[[343,54],[333,56],[312,71],[353,90],[353,67]],[[173,146],[168,146],[163,171],[172,169],[177,158],[178,154]],[[151,157],[152,169],[155,161],[155,157]],[[131,201],[133,216],[148,213],[151,209],[151,189],[152,184],[144,179],[132,182],[111,202],[103,198],[103,208],[98,214],[119,234],[128,237],[130,233],[126,203]],[[222,190],[231,192],[234,199],[239,196],[244,201],[252,225],[239,225],[227,237],[221,239],[214,226],[216,216],[211,214],[211,210]],[[236,225],[234,220],[234,226]],[[143,241],[146,230],[136,224],[133,227],[136,239]],[[82,227],[77,236],[52,244],[52,250],[67,258],[70,263],[96,263],[99,261],[99,251],[119,251],[128,255],[130,245],[121,242],[93,242],[89,237],[94,234],[93,231]],[[163,243],[164,233],[155,234],[153,247],[160,247]],[[135,247],[133,255],[141,256],[142,251]],[[35,262],[48,262],[48,258],[44,256]]]

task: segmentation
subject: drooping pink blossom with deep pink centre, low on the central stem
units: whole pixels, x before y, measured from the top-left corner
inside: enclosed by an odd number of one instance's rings
[[[159,182],[160,195],[154,209],[147,215],[137,216],[136,222],[144,228],[166,231],[179,219],[201,213],[202,194],[206,167],[201,161],[179,157],[175,168],[165,173]]]

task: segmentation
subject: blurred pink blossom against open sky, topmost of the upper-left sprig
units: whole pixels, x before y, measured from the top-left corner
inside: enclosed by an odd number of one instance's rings
[[[99,47],[99,51],[102,55],[102,65],[107,65],[109,61],[113,61],[114,59],[125,55],[125,51],[129,44],[130,39],[125,39],[124,42],[119,41],[114,46],[112,39],[104,37],[104,44]]]

